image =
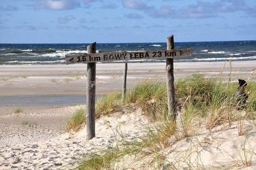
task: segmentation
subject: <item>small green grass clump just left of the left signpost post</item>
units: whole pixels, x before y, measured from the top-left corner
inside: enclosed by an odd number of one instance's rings
[[[78,131],[82,123],[85,123],[85,109],[80,108],[75,111],[71,118],[66,122],[66,131]]]

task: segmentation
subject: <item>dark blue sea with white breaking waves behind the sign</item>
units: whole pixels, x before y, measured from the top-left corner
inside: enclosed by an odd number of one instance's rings
[[[0,44],[0,65],[66,64],[65,55],[87,53],[81,44]],[[191,47],[192,57],[175,62],[256,60],[256,41],[177,42],[175,48]],[[164,50],[166,43],[97,43],[98,52]],[[125,61],[115,61],[124,63]],[[133,60],[128,63],[165,62],[161,59]]]

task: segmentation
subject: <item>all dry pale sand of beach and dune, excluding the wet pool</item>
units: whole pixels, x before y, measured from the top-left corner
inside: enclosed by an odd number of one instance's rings
[[[197,72],[203,73],[206,77],[217,77],[223,64],[224,62],[175,63],[175,78]],[[233,62],[233,80],[237,81],[237,78],[246,80],[255,68],[256,61]],[[1,65],[0,96],[85,95],[86,77],[78,79],[75,77],[85,73],[86,65],[82,64]],[[123,64],[97,64],[97,94],[121,90],[122,73]],[[135,81],[147,77],[164,80],[165,73],[165,63],[129,64],[127,86],[131,88]],[[27,77],[23,78],[24,75]],[[229,63],[226,63],[223,76],[229,76]],[[69,80],[65,82],[65,78]],[[256,80],[256,74],[251,76],[251,80]],[[14,110],[17,107],[21,107],[23,113],[15,115]],[[129,138],[137,138],[141,135],[139,122],[145,119],[138,111],[99,119],[96,122],[96,138],[89,141],[85,140],[85,129],[73,135],[62,134],[65,119],[77,107],[0,106],[0,169],[74,168],[82,159],[82,155],[112,146],[115,142],[113,131],[117,127]],[[36,125],[20,125],[23,121],[34,121]],[[166,167],[169,167],[170,163],[178,169],[188,167],[191,163],[195,166],[200,164],[218,166],[228,163],[231,167],[227,169],[239,168],[239,165],[234,165],[236,162],[234,160],[241,160],[235,147],[243,146],[241,141],[245,136],[237,135],[236,126],[235,123],[226,130],[205,131],[203,134],[180,140],[172,146],[175,147],[176,152],[168,152],[173,149],[172,147],[164,151],[170,161],[165,164]],[[254,161],[256,160],[255,133],[254,126],[246,138],[247,150],[253,153],[251,159]],[[192,153],[191,158],[189,153]],[[200,162],[197,163],[199,158]],[[237,162],[241,163],[241,161]],[[136,166],[134,164],[134,167]],[[192,166],[192,169],[196,168]],[[248,169],[256,168],[252,166]]]

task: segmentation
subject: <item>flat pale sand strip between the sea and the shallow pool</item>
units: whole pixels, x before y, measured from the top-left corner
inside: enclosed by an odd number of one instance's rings
[[[206,77],[217,77],[225,62],[174,63],[174,77],[202,73]],[[122,90],[123,64],[97,64],[96,94],[108,94]],[[127,88],[142,78],[166,79],[166,63],[129,63]],[[234,61],[232,77],[247,79],[256,69],[255,61]],[[228,77],[230,67],[226,63],[223,77]],[[1,65],[0,96],[17,95],[85,95],[86,64],[72,65]],[[27,76],[26,78],[23,78]],[[80,76],[77,78],[76,76]],[[84,77],[82,77],[84,76]],[[251,77],[256,80],[256,74]]]

